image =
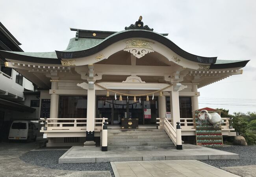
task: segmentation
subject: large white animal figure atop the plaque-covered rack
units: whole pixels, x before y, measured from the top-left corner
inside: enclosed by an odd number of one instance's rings
[[[217,112],[208,113],[204,109],[198,113],[198,118],[200,120],[208,120],[215,128],[224,123],[224,120],[221,119],[221,116]]]

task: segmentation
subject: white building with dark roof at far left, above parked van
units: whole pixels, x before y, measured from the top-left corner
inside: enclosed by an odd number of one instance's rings
[[[15,37],[0,23],[0,50],[23,52]],[[6,140],[13,120],[38,120],[40,93],[17,70],[7,68],[0,55],[0,140]]]

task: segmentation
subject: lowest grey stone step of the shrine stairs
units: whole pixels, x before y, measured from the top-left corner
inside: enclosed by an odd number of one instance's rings
[[[108,146],[108,150],[135,150],[135,149],[174,149],[174,145],[162,146]]]

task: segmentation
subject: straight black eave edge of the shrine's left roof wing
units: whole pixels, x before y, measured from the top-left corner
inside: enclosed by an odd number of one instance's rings
[[[28,61],[33,63],[45,63],[45,64],[61,64],[60,59],[53,59],[53,58],[40,58],[40,57],[32,57],[26,55],[20,55],[17,53],[6,52],[4,50],[0,50],[0,57],[7,58],[7,59],[17,59],[20,61]]]

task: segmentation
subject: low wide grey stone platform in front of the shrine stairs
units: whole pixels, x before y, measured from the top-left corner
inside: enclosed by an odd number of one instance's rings
[[[149,160],[220,160],[239,159],[238,154],[219,151],[207,147],[184,144],[183,150],[112,150],[102,152],[100,147],[73,146],[59,158],[63,163],[95,163]]]

